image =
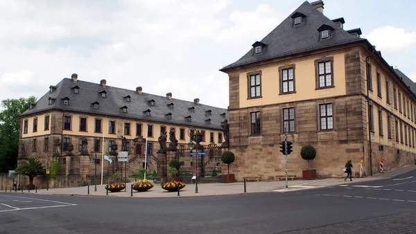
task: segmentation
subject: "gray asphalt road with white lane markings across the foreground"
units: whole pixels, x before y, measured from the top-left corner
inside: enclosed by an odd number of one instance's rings
[[[416,233],[416,170],[347,186],[137,199],[0,193],[0,233]]]

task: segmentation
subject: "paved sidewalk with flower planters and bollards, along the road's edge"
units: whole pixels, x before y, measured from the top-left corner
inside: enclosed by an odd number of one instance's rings
[[[353,182],[374,181],[378,179],[386,179],[396,177],[399,174],[416,170],[416,165],[408,166],[405,168],[399,168],[390,170],[382,174],[375,174],[373,177],[354,178]],[[344,179],[315,179],[315,180],[294,180],[288,181],[288,188],[286,188],[286,181],[260,181],[260,182],[247,182],[246,193],[259,193],[259,192],[289,192],[295,190],[306,190],[311,188],[322,188],[331,186],[340,186],[352,182],[345,182]],[[80,195],[80,196],[104,196],[104,197],[130,197],[130,185],[127,183],[126,191],[124,192],[108,192],[106,195],[105,184],[97,185],[97,191],[94,192],[94,185],[89,186],[89,195],[87,195],[87,186],[76,188],[50,188],[49,190],[42,189],[37,190],[37,194],[40,195]],[[187,184],[185,188],[180,190],[180,197],[201,197],[201,196],[218,196],[218,195],[240,195],[245,194],[244,183],[198,183],[198,193],[195,193],[195,184]],[[4,192],[4,191],[1,191]],[[21,191],[17,191],[21,193]],[[24,190],[24,193],[27,193]],[[8,192],[15,193],[15,192]],[[34,190],[31,193],[35,193]],[[155,186],[147,192],[136,192],[133,190],[133,196],[136,198],[168,198],[177,197],[177,192],[167,192],[162,189],[160,183],[155,183]]]

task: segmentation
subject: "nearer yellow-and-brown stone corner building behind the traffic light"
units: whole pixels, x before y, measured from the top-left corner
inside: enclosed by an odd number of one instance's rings
[[[250,51],[220,71],[229,75],[229,150],[236,179],[284,177],[284,128],[293,152],[288,175],[302,177],[304,145],[317,150],[318,177],[364,174],[415,164],[416,84],[393,69],[361,29],[329,19],[305,1]],[[371,142],[371,144],[370,144]],[[370,165],[370,162],[372,164]]]

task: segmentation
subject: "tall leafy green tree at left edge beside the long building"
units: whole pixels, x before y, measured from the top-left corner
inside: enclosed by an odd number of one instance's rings
[[[19,150],[19,118],[35,97],[1,101],[0,111],[0,172],[8,172],[17,165]]]

